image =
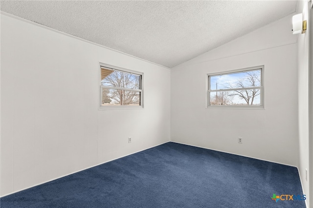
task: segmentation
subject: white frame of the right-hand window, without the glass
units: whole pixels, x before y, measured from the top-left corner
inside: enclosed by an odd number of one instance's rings
[[[234,90],[234,88],[232,88],[232,89],[231,88],[230,89],[215,89],[215,90],[210,89],[210,86],[211,86],[210,76],[240,73],[240,72],[246,72],[246,71],[253,71],[253,70],[257,70],[257,69],[261,69],[261,86],[244,87],[244,88],[236,88],[236,89],[237,90],[238,89],[260,89],[261,90],[261,92],[260,92],[260,105],[210,105],[210,92]],[[264,65],[206,74],[206,108],[265,109],[265,107],[264,107]]]

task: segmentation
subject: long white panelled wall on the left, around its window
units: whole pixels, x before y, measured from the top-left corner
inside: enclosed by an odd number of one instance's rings
[[[98,110],[99,62],[144,73],[144,109]],[[168,142],[169,89],[167,68],[2,14],[1,196]]]

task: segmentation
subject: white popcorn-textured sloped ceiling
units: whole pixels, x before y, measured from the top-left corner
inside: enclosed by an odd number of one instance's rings
[[[296,11],[294,0],[1,0],[0,9],[174,67]]]

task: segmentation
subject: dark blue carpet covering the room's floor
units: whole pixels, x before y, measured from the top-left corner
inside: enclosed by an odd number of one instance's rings
[[[282,200],[273,201],[273,194]],[[293,196],[284,200],[283,195]],[[2,197],[0,205],[1,208],[305,208],[298,195],[303,199],[295,167],[169,142]]]

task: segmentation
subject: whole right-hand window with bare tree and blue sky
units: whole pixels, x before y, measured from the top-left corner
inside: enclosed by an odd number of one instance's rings
[[[264,108],[264,66],[207,74],[207,107]]]

